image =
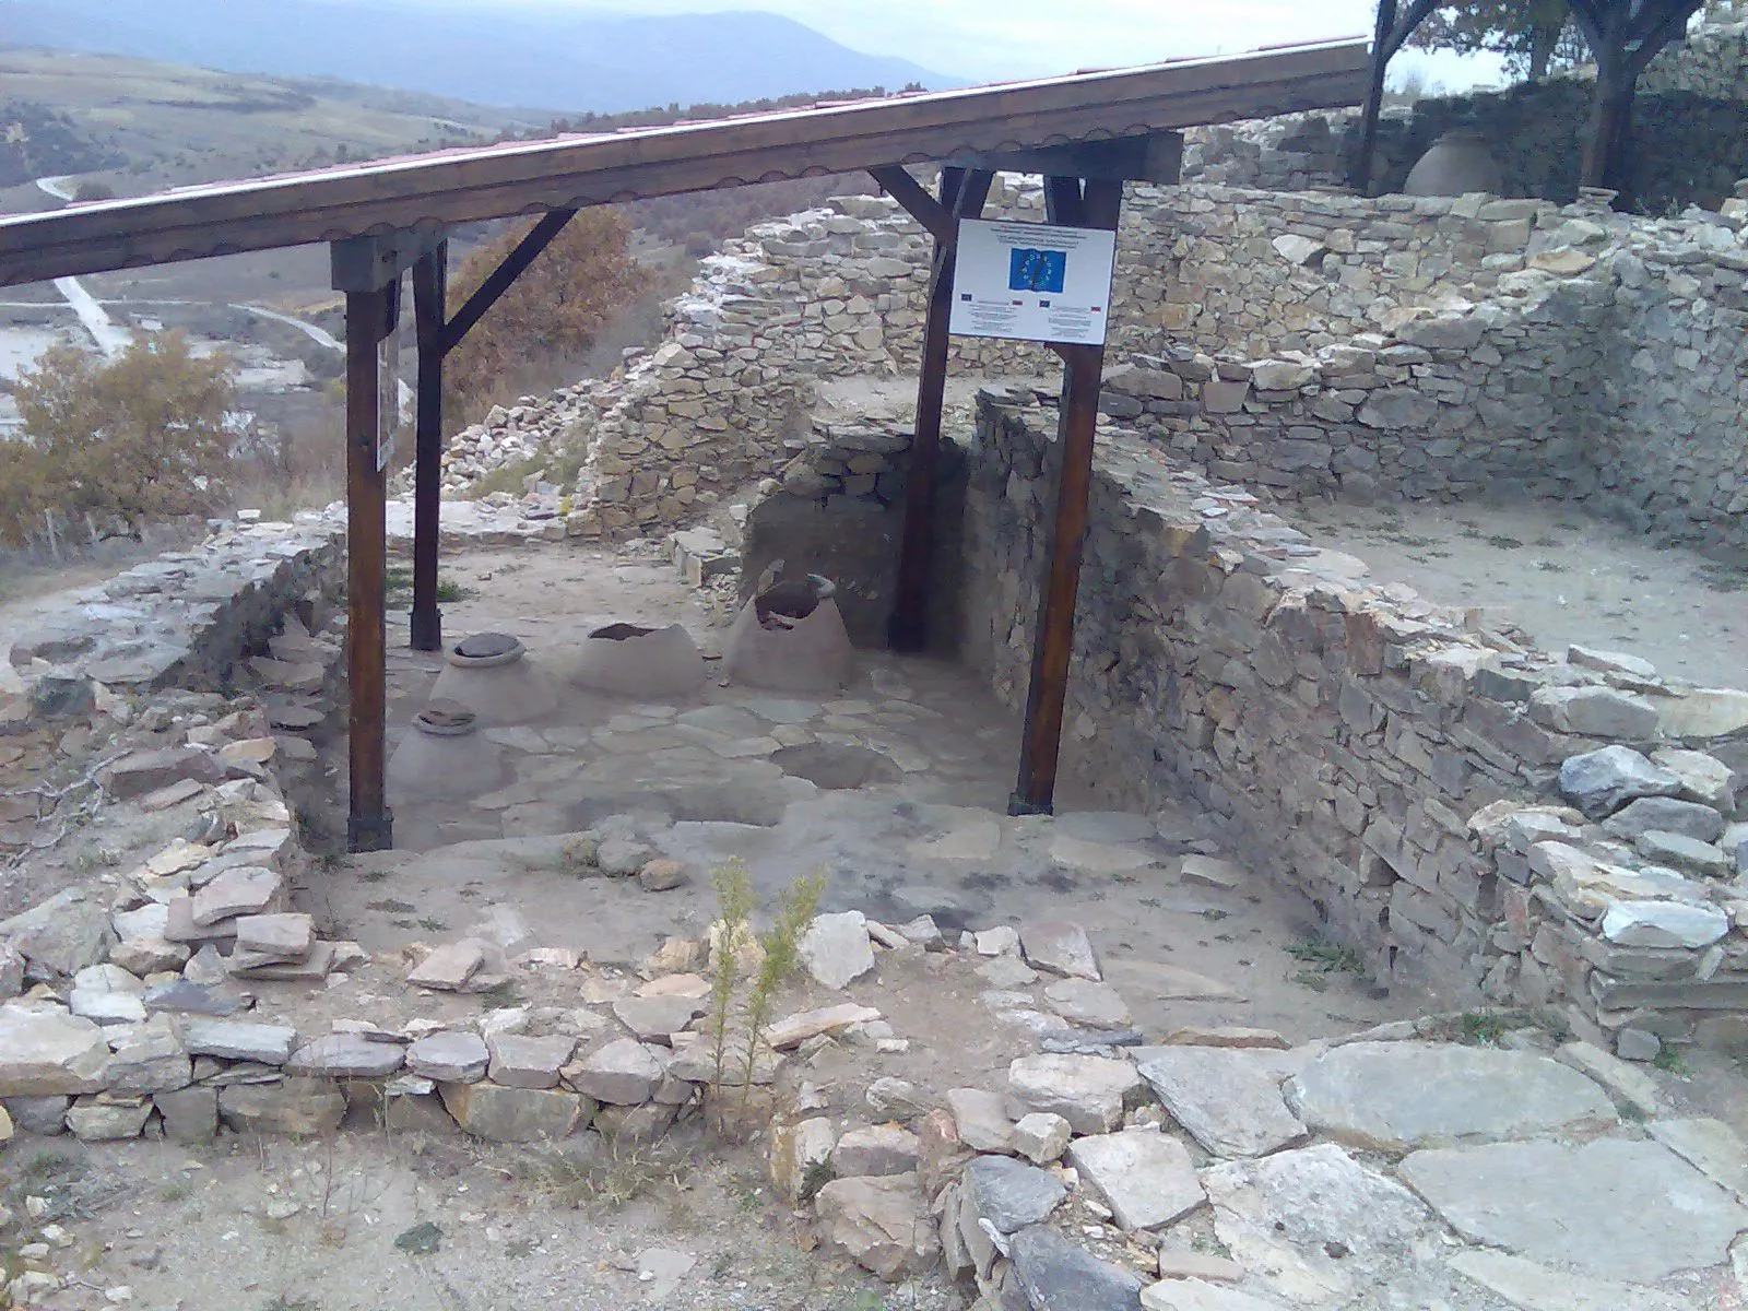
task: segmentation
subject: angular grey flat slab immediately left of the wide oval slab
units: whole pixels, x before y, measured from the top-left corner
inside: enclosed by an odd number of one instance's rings
[[[1134,1068],[1215,1155],[1267,1155],[1306,1136],[1281,1099],[1280,1058],[1229,1047],[1143,1047]]]

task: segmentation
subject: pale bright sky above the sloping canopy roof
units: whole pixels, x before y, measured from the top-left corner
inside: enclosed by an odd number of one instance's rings
[[[491,3],[491,0],[474,0]],[[1259,45],[1369,37],[1374,0],[544,0],[603,14],[762,9],[869,54],[974,80],[1117,68]],[[1493,59],[1404,51],[1407,70],[1458,89],[1495,80]]]

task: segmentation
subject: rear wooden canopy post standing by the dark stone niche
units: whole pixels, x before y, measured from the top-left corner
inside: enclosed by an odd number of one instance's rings
[[[886,645],[925,650],[928,645],[928,593],[935,566],[935,479],[940,468],[940,409],[947,393],[947,320],[953,315],[953,269],[961,218],[975,218],[989,199],[993,173],[940,170],[940,208],[949,213],[946,238],[935,238],[928,278],[928,316],[923,320],[923,360],[916,379],[916,435],[904,486],[904,537],[898,547],[898,584]]]

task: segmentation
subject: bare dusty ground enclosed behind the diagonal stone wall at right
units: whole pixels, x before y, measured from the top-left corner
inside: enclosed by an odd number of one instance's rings
[[[1547,650],[1624,650],[1668,676],[1748,678],[1748,572],[1557,505],[1287,507],[1318,545],[1430,601],[1502,610]]]

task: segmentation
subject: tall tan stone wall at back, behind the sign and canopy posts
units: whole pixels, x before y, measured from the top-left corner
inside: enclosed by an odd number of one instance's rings
[[[1031,212],[1026,192],[1003,203]],[[928,243],[890,201],[834,205],[708,260],[657,350],[523,407],[517,423],[558,423],[556,446],[587,449],[570,533],[694,517],[806,446],[818,379],[914,371]],[[1484,196],[1133,187],[1110,357],[1136,367],[1106,409],[1278,498],[1517,489],[1743,547],[1745,217],[1741,199],[1641,220]],[[1052,372],[1030,348],[956,350],[958,371]],[[456,442],[453,477],[477,449]]]

